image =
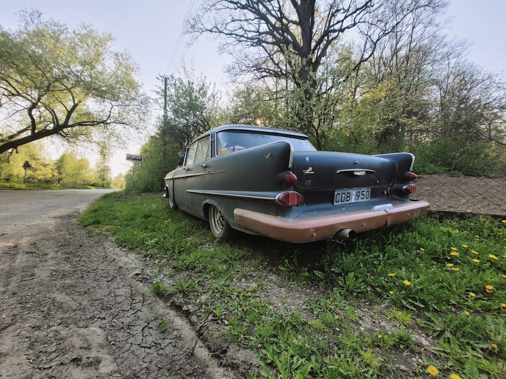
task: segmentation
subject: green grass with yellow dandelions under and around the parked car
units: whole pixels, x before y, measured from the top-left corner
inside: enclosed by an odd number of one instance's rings
[[[152,293],[256,350],[252,377],[506,375],[506,221],[423,217],[352,245],[224,243],[160,196],[113,193],[80,222],[155,258]]]

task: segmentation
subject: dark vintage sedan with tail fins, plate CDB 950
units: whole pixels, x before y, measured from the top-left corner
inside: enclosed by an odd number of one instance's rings
[[[355,240],[427,213],[429,203],[409,199],[413,162],[409,153],[320,152],[301,133],[224,125],[186,148],[163,196],[207,220],[218,239],[241,230],[290,243]]]

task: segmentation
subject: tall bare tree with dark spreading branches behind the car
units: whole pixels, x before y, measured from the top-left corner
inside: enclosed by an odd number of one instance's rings
[[[362,48],[345,75],[347,79],[373,54],[379,41],[390,34],[403,15],[420,0],[209,0],[188,21],[195,36],[223,37],[221,49],[235,58],[230,73],[245,79],[278,78],[298,92],[292,104],[297,125],[311,132],[321,94],[319,70],[329,50],[345,32],[362,35]],[[395,13],[396,17],[391,17]],[[323,66],[322,66],[323,65]],[[343,78],[339,78],[343,80]]]

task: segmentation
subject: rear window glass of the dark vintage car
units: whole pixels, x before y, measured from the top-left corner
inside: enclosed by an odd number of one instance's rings
[[[290,141],[294,151],[316,151],[306,138],[286,134],[225,130],[216,134],[216,154],[224,155],[277,141]]]

